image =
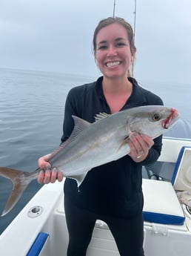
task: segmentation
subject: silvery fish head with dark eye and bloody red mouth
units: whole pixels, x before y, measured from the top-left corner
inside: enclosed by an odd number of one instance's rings
[[[179,117],[175,108],[148,105],[134,108],[133,113],[127,116],[127,123],[130,125],[129,131],[146,134],[154,139],[172,128]]]

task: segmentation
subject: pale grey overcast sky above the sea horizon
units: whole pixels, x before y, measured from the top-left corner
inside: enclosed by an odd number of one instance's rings
[[[134,24],[135,0],[115,16]],[[93,31],[113,0],[0,0],[0,68],[97,76]],[[191,1],[137,0],[134,76],[191,84]]]

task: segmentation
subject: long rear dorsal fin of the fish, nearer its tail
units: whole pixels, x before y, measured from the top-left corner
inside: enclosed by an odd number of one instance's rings
[[[66,141],[62,142],[61,145],[59,145],[59,147],[56,148],[55,151],[53,151],[53,153],[50,156],[50,159],[53,156],[55,156],[58,153],[58,151],[61,151],[61,149],[64,148],[68,143],[72,142],[76,138],[76,136],[81,133],[81,131],[84,131],[84,129],[86,129],[89,125],[91,125],[90,122],[87,122],[86,120],[81,119],[78,116],[73,116],[73,121],[74,121],[74,128],[73,128],[72,134]]]

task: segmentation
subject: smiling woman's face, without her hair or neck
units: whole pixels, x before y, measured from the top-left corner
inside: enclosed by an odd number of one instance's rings
[[[95,58],[98,68],[107,78],[127,78],[133,55],[124,26],[114,23],[98,31]]]

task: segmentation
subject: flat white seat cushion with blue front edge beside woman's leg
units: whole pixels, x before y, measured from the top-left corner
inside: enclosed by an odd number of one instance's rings
[[[144,221],[169,225],[183,225],[184,212],[172,183],[143,179]]]

